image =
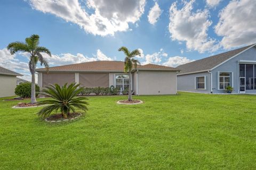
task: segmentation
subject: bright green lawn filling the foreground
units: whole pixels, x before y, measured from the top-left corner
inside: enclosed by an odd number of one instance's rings
[[[89,97],[73,123],[0,101],[0,169],[256,169],[256,96]]]

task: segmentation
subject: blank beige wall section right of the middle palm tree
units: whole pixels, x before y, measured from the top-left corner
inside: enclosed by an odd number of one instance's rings
[[[175,71],[139,71],[138,95],[174,95],[177,93]]]

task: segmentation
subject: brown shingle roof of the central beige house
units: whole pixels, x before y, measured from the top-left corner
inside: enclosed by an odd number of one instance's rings
[[[138,65],[138,70],[166,70],[166,71],[178,71],[173,67],[156,65],[156,64],[146,64]],[[36,69],[37,72],[45,72],[46,69]],[[78,64],[69,64],[62,66],[49,67],[49,72],[54,71],[67,71],[67,72],[123,72],[124,62],[121,61],[93,61]]]

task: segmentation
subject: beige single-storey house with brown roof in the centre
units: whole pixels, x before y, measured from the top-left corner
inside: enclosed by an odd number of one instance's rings
[[[170,95],[177,93],[177,71],[173,67],[147,64],[132,71],[132,90],[136,95]],[[124,73],[124,62],[94,61],[37,69],[38,86],[66,82],[83,87],[129,87],[129,74]]]

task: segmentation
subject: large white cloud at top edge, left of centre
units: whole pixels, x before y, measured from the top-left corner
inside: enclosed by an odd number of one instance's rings
[[[51,13],[67,22],[72,22],[93,35],[114,35],[116,31],[129,30],[144,12],[146,0],[87,0],[89,14],[78,0],[29,0],[30,5],[43,13]]]

